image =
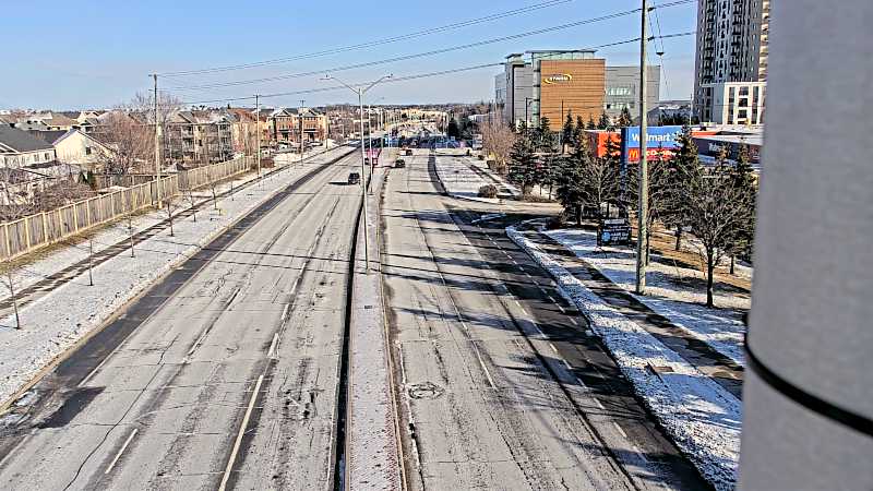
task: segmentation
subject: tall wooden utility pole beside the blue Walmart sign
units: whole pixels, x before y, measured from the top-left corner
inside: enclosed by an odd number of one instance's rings
[[[646,252],[648,251],[648,128],[646,121],[646,14],[647,0],[643,0],[639,36],[639,200],[636,209],[636,294],[646,295]]]

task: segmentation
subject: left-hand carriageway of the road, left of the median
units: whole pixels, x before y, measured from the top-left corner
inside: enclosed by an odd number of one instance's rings
[[[0,489],[331,489],[356,156],[186,262],[37,385],[41,409],[0,433]]]

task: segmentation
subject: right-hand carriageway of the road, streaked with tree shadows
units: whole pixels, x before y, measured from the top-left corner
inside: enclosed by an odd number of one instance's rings
[[[518,212],[449,199],[427,151],[391,171],[382,259],[411,489],[707,489],[505,238]],[[522,208],[523,209],[523,208]]]

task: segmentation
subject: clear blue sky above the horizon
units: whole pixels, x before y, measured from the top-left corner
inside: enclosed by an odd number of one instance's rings
[[[662,0],[655,0],[660,3]],[[663,0],[666,1],[666,0]],[[0,44],[4,76],[0,108],[79,109],[111,107],[151,86],[148,74],[249,63],[309,53],[471,20],[542,0],[436,2],[384,0],[289,2],[259,0],[153,1],[9,1],[3,2]],[[343,64],[411,55],[567,22],[630,10],[639,0],[573,0],[519,16],[464,27],[414,40],[285,64],[162,80],[162,85],[196,85],[303,71],[326,71]],[[693,31],[696,2],[662,9],[663,34]],[[334,72],[350,82],[426,73],[499,62],[513,51],[571,49],[638,36],[639,17],[624,16],[485,47],[396,62],[378,68]],[[661,98],[689,98],[693,85],[694,37],[665,43]],[[650,45],[651,46],[651,45]],[[658,45],[660,48],[660,44]],[[636,64],[637,45],[598,51],[608,64]],[[653,55],[650,60],[657,61]],[[371,98],[383,103],[420,104],[493,98],[493,75],[485,69],[378,87]],[[175,92],[182,100],[204,100],[254,93],[270,94],[328,85],[318,75],[280,82]],[[669,94],[668,94],[669,88]],[[268,105],[307,105],[352,100],[348,92],[267,99]],[[242,104],[242,103],[239,103]]]

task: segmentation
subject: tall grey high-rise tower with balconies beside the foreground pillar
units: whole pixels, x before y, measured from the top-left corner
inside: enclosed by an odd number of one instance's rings
[[[701,120],[722,112],[714,107],[718,84],[767,80],[769,14],[769,0],[697,0],[694,103]]]

